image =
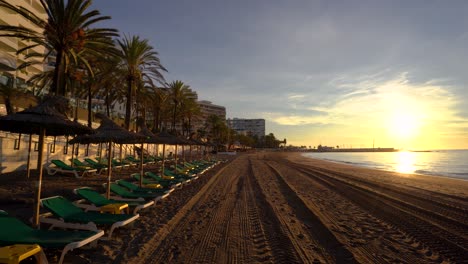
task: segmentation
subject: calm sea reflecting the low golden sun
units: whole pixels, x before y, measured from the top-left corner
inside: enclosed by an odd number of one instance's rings
[[[407,174],[468,180],[468,149],[398,152],[308,152],[304,156]]]

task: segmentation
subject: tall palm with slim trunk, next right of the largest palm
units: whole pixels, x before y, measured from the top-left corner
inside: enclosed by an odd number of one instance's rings
[[[146,39],[139,36],[124,36],[117,40],[120,49],[120,67],[125,71],[127,82],[127,104],[125,108],[125,127],[130,128],[132,104],[134,95],[141,82],[157,81],[164,84],[161,71],[167,71],[158,57],[158,52],[148,43]]]

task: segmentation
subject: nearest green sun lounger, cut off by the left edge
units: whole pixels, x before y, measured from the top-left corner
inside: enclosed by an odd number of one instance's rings
[[[104,235],[104,231],[66,231],[40,230],[26,225],[22,221],[8,216],[0,211],[0,246],[13,244],[38,244],[42,248],[62,249],[59,263],[63,262],[65,254],[75,248],[82,247]]]

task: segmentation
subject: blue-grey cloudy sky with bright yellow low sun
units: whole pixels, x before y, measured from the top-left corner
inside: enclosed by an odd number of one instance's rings
[[[228,118],[316,147],[468,148],[468,1],[94,0]]]

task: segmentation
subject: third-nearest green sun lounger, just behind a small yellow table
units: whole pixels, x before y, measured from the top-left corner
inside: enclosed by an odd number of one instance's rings
[[[147,208],[151,205],[154,204],[153,201],[145,201],[144,199],[107,199],[100,193],[98,193],[96,190],[93,190],[89,187],[81,187],[73,190],[74,193],[85,199],[86,201],[90,202],[92,205],[94,205],[94,208],[92,207],[85,207],[88,210],[94,210],[94,211],[99,211],[100,207],[106,206],[109,204],[121,204],[121,203],[126,203],[128,206],[133,208],[133,214],[136,214],[139,210]],[[80,204],[76,204],[78,207],[81,207]]]

